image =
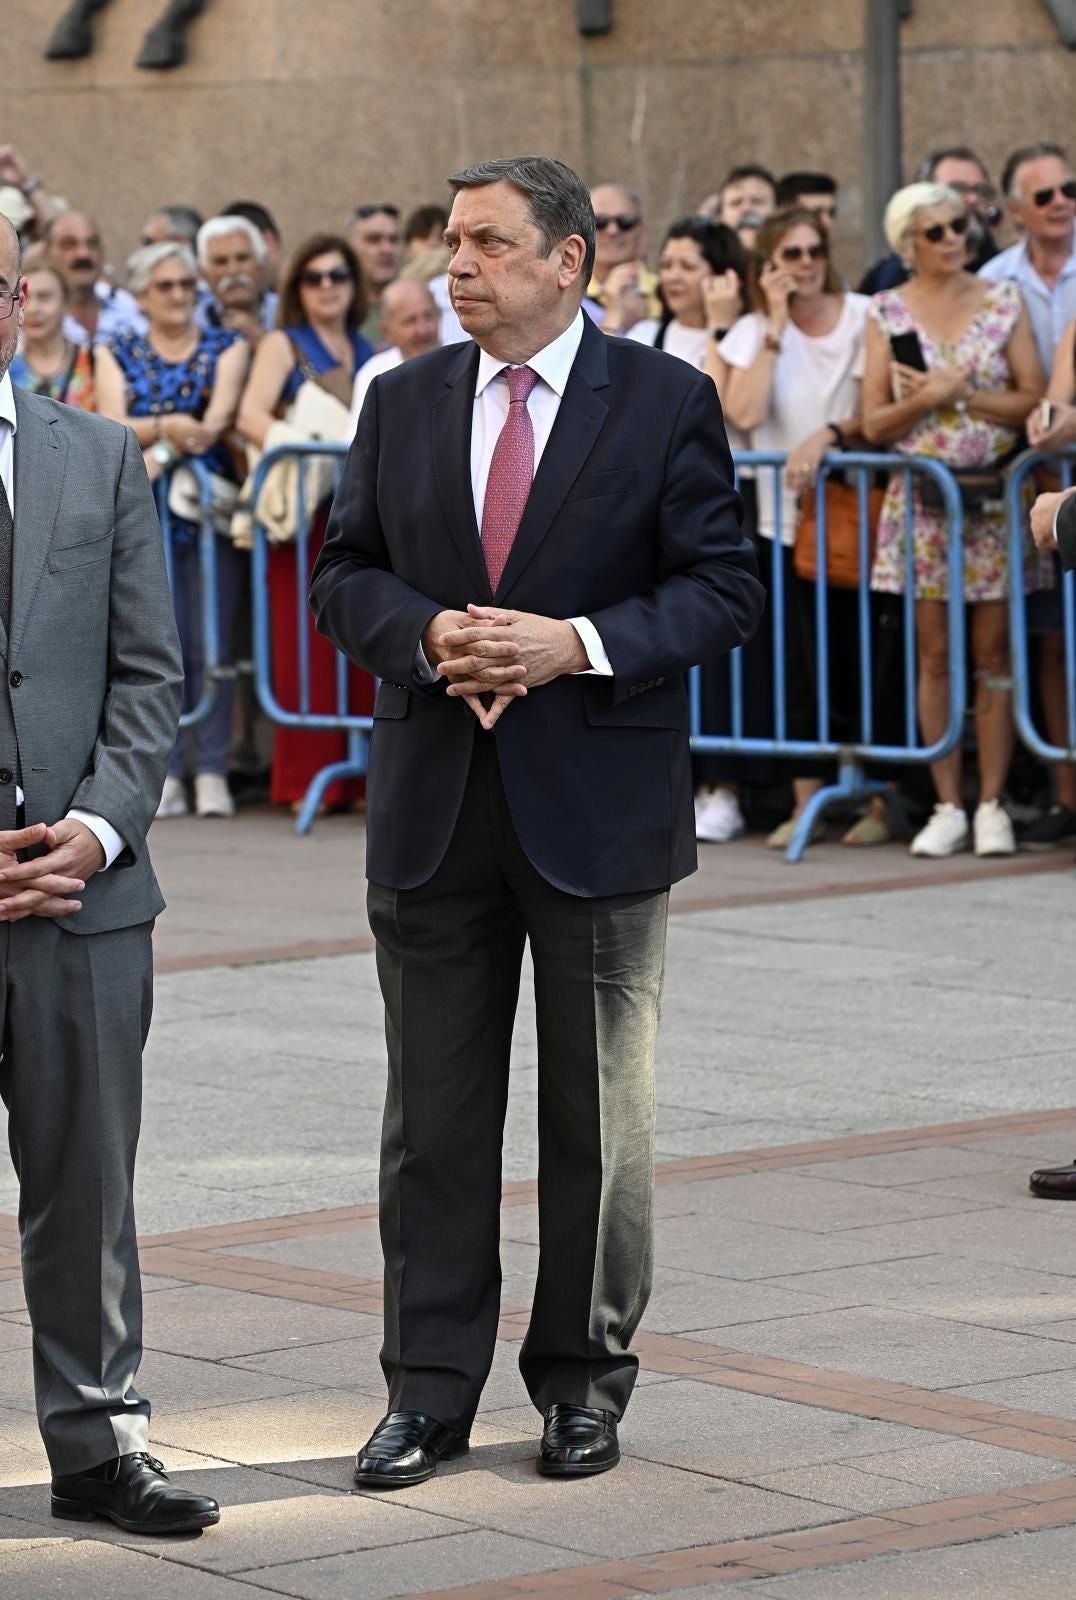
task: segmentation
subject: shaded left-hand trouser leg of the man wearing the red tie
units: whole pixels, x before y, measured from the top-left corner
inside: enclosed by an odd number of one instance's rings
[[[368,891],[389,1053],[381,1365],[391,1410],[426,1411],[461,1434],[496,1344],[501,1136],[524,952],[498,862],[492,754],[476,752],[429,883]]]

